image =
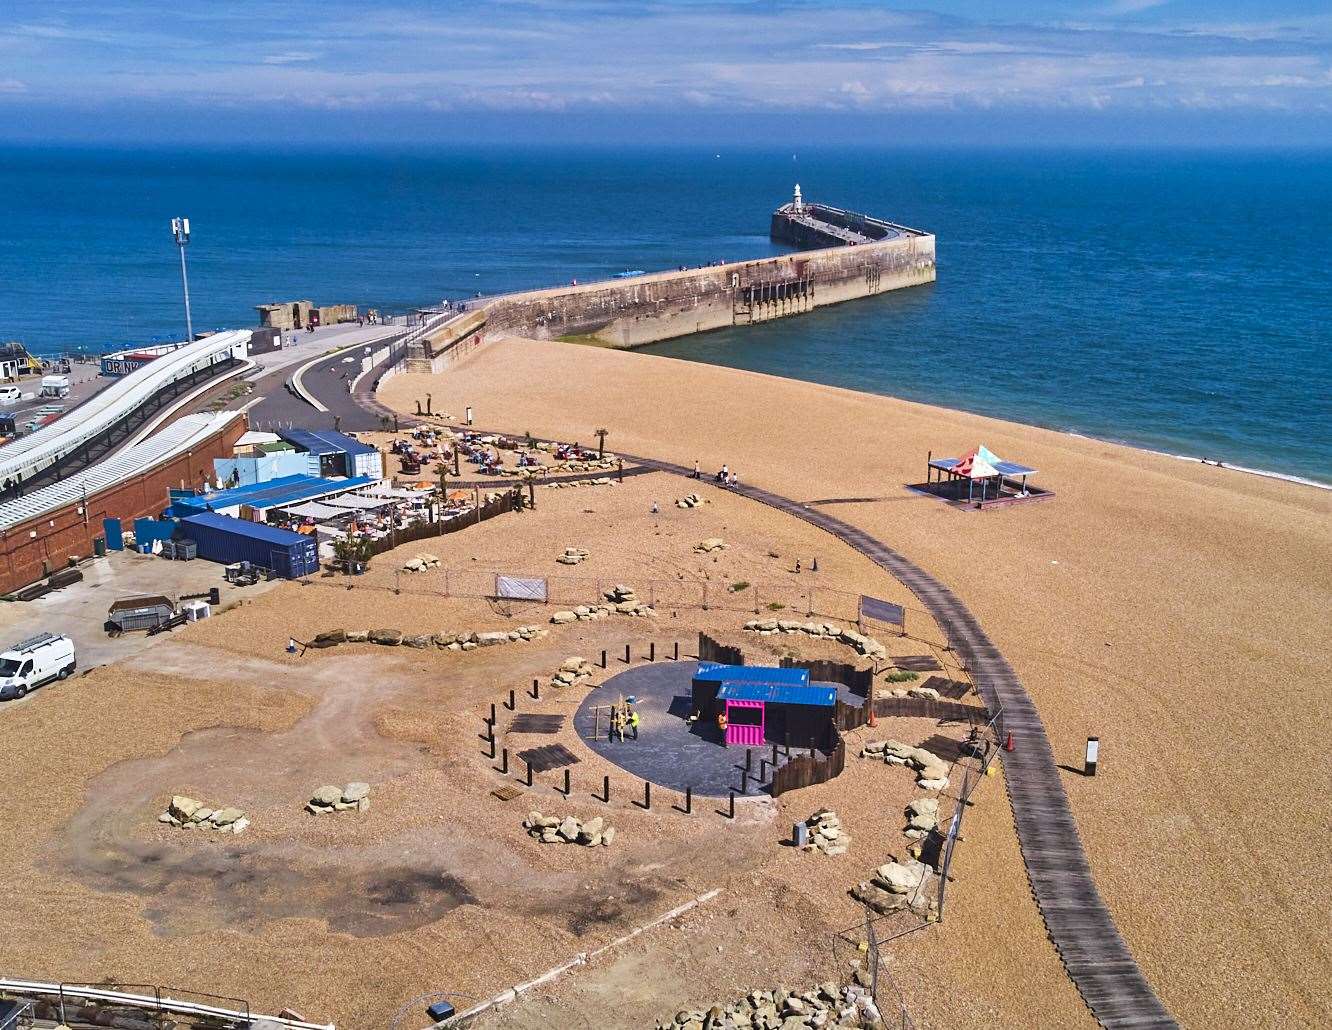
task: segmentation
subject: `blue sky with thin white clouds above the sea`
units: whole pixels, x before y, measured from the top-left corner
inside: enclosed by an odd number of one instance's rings
[[[4,0],[0,139],[1332,144],[1332,5]]]

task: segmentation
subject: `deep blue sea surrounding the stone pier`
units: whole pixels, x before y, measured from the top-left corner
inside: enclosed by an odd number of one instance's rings
[[[934,232],[939,281],[662,344],[697,361],[1332,482],[1332,153],[20,149],[0,340],[180,338],[774,253],[809,200]]]

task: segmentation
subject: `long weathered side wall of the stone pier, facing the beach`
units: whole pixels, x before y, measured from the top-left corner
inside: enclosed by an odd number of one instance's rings
[[[935,278],[934,236],[908,232],[856,247],[529,290],[482,304],[485,334],[591,337],[618,348],[783,318]],[[444,329],[429,348],[441,353]]]

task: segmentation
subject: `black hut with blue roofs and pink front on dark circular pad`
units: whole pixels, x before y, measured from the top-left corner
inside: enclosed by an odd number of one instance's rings
[[[727,745],[822,746],[836,712],[836,688],[810,682],[809,669],[702,662],[694,710],[725,726]]]

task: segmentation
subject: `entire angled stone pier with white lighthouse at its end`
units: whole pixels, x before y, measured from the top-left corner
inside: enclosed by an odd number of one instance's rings
[[[513,333],[578,336],[635,348],[754,325],[935,280],[934,236],[867,215],[795,199],[773,213],[773,240],[797,253],[574,286],[506,293],[408,338],[409,372],[438,372],[468,341]]]

